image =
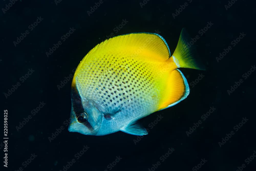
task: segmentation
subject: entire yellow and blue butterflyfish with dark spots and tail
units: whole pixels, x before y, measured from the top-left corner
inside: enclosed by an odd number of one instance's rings
[[[177,68],[204,69],[194,60],[189,40],[183,29],[173,55],[156,33],[131,33],[96,45],[74,73],[68,130],[86,135],[147,134],[139,119],[189,94]]]

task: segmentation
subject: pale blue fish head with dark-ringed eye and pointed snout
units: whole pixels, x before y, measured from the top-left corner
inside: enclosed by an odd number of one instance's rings
[[[103,119],[102,113],[94,105],[94,102],[86,98],[72,99],[72,108],[70,112],[70,132],[79,132],[84,135],[96,135],[99,131]]]

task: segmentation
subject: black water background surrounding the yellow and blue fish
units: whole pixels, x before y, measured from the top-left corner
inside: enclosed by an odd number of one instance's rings
[[[255,170],[256,158],[251,157],[249,163],[245,160],[253,154],[256,156],[253,152],[256,150],[256,72],[249,72],[246,78],[242,76],[256,64],[255,2],[232,1],[234,4],[227,10],[228,1],[150,0],[144,1],[145,5],[140,4],[142,0],[102,2],[90,16],[87,11],[99,1],[63,0],[57,5],[54,0],[17,1],[5,13],[1,10],[1,110],[3,115],[4,109],[8,110],[9,138],[8,168],[3,167],[3,144],[0,147],[1,170],[20,167],[24,170],[63,170],[72,159],[75,163],[67,170],[198,170],[200,165],[198,169],[195,166],[202,160],[206,162],[201,163],[199,170],[241,170],[243,164],[246,166],[243,170]],[[182,9],[180,5],[185,2],[187,6]],[[1,1],[1,8],[8,8],[8,3]],[[173,16],[176,10],[181,12]],[[31,30],[30,25],[37,17],[42,19]],[[128,22],[119,26],[122,20]],[[208,22],[213,25],[201,35],[199,31]],[[115,30],[116,26],[120,29]],[[68,132],[65,120],[71,108],[71,80],[61,88],[57,86],[73,74],[72,70],[91,48],[111,33],[117,36],[157,32],[165,38],[173,53],[183,27],[192,38],[199,36],[197,51],[207,71],[181,69],[190,84],[190,95],[176,106],[142,119],[142,124],[150,130],[148,135],[140,138],[117,132],[86,136]],[[63,41],[61,37],[70,28],[75,31]],[[14,44],[26,30],[29,32],[26,37]],[[245,36],[231,44],[240,33]],[[62,44],[47,56],[46,52],[58,41]],[[228,46],[232,49],[217,60],[219,53]],[[29,69],[34,72],[26,80],[20,79]],[[199,74],[202,75],[200,81],[197,80]],[[227,90],[240,79],[242,83],[228,93]],[[20,86],[6,97],[8,89],[18,82]],[[45,105],[32,115],[31,110],[40,102]],[[210,107],[216,109],[203,120],[201,116]],[[29,115],[31,119],[18,129],[20,122]],[[158,116],[163,119],[152,126],[151,122],[156,123]],[[236,127],[243,118],[248,121]],[[198,121],[201,124],[187,136],[186,131]],[[56,133],[56,129],[61,132]],[[228,138],[231,131],[234,134]],[[220,145],[225,137],[226,143]],[[89,149],[82,154],[84,145]],[[174,149],[170,155],[166,154],[169,148]],[[79,152],[82,155],[78,158],[75,154]],[[36,155],[32,161],[31,154]],[[163,161],[162,155],[168,157]],[[119,156],[122,159],[113,163]],[[28,164],[24,163],[26,161]],[[160,165],[154,168],[158,161]],[[116,165],[112,167],[110,163]]]

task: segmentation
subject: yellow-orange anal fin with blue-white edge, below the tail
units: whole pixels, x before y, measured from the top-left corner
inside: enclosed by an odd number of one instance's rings
[[[162,94],[158,110],[176,105],[184,100],[188,94],[189,86],[187,79],[180,70],[173,70],[167,80],[166,89]]]

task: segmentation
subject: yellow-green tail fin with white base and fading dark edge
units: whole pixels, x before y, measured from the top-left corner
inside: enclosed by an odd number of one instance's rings
[[[191,45],[189,41],[192,41],[186,30],[183,28],[177,47],[172,55],[173,61],[177,67],[192,68],[197,70],[205,70],[204,65],[198,60],[196,53],[196,45]]]

